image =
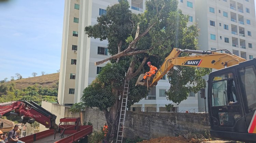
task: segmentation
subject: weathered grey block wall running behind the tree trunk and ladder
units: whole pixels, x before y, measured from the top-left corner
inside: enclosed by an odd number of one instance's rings
[[[85,122],[91,122],[94,130],[100,130],[106,121],[98,108],[87,108]],[[151,139],[176,136],[181,130],[204,132],[209,129],[204,113],[126,111],[124,136]]]

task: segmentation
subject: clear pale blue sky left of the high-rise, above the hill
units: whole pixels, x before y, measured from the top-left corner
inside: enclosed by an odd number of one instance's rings
[[[0,0],[0,80],[60,69],[64,0]]]

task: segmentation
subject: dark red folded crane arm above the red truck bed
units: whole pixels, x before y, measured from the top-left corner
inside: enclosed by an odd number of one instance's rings
[[[14,112],[11,112],[14,111]],[[0,118],[2,116],[16,115],[23,117],[22,123],[38,123],[46,128],[58,130],[58,125],[55,123],[56,115],[45,110],[35,102],[13,101],[0,104]]]

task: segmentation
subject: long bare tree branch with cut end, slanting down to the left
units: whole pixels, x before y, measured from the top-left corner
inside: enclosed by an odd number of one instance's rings
[[[142,34],[139,35],[137,38],[135,38],[135,39],[129,44],[129,46],[127,47],[127,49],[125,49],[124,51],[122,51],[122,52],[120,52],[120,53],[118,53],[118,54],[115,54],[115,55],[113,55],[113,56],[111,56],[111,57],[108,57],[108,58],[106,58],[106,59],[97,61],[97,62],[94,63],[94,65],[97,66],[97,65],[103,64],[104,62],[106,62],[106,61],[108,61],[108,60],[117,59],[117,58],[119,58],[119,57],[125,56],[125,55],[124,55],[125,53],[129,52],[130,50],[132,50],[132,45],[133,45],[134,43],[136,43],[141,37],[145,36],[145,35],[149,32],[149,30],[150,30],[155,24],[156,24],[156,22],[153,23],[150,27],[148,27],[144,33],[142,33]],[[141,52],[141,53],[143,53],[143,52]]]

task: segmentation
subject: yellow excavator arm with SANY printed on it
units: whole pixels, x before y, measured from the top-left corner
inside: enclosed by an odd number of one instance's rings
[[[218,53],[217,51],[225,51],[226,53]],[[201,54],[195,56],[179,57],[181,53],[193,53]],[[190,66],[190,67],[201,67],[201,68],[212,68],[212,69],[223,69],[237,65],[246,59],[241,58],[237,55],[232,54],[226,49],[213,50],[213,51],[198,51],[198,50],[182,50],[173,48],[169,56],[165,58],[165,61],[158,69],[156,75],[153,77],[150,87],[157,85],[157,82],[174,66]],[[137,82],[138,84],[138,82]],[[145,85],[144,83],[141,85]]]

